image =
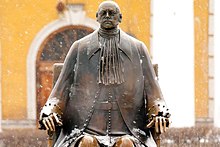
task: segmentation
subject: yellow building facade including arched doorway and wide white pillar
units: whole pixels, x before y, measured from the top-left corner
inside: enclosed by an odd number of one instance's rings
[[[142,40],[159,64],[159,83],[173,127],[216,125],[214,0],[116,0],[120,24]],[[2,0],[2,127],[36,127],[52,87],[52,65],[75,40],[98,28],[101,0]],[[215,114],[215,115],[214,115]],[[218,126],[218,125],[216,125]]]

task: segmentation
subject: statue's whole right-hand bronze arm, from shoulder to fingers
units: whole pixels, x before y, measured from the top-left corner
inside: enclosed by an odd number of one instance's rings
[[[156,133],[163,133],[169,127],[169,109],[163,98],[147,47],[141,43],[142,68],[145,79],[145,98],[147,112],[147,127]]]

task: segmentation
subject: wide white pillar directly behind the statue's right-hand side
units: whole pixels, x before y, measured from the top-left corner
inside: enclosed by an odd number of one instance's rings
[[[192,0],[152,0],[151,50],[173,127],[195,123],[193,9]]]

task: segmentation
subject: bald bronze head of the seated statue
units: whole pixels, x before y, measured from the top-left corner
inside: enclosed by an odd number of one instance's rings
[[[101,28],[106,30],[116,28],[121,22],[119,7],[111,1],[104,2],[99,6],[96,17]]]

